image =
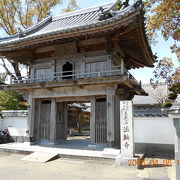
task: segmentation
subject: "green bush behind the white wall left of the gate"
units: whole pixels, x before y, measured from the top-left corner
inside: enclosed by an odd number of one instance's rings
[[[27,106],[23,97],[13,90],[0,91],[0,111],[1,110],[25,110]]]

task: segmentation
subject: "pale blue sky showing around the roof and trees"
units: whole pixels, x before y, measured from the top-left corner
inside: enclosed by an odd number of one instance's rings
[[[111,0],[77,0],[77,5],[80,8],[87,8],[87,7],[96,6],[98,4],[103,4],[103,3],[108,3],[108,2],[111,2]],[[66,4],[64,4],[64,7],[65,6]],[[62,8],[63,6],[56,7],[55,9],[53,9],[52,14],[58,15],[59,13],[61,13]],[[157,53],[158,58],[162,58],[165,56],[170,57],[172,58],[175,66],[176,67],[179,66],[176,55],[171,53],[171,50],[170,50],[170,46],[173,45],[174,43],[173,40],[170,39],[168,41],[164,41],[160,33],[158,33],[156,40],[158,43],[156,43],[155,46],[151,46],[153,54]],[[0,68],[0,71],[2,71],[2,68]],[[152,73],[153,68],[139,68],[139,69],[131,70],[130,72],[138,81],[141,80],[142,83],[149,83],[150,78],[152,78],[153,76],[153,73]]]

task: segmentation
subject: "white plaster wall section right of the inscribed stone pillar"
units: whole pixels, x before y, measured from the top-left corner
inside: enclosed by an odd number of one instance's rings
[[[135,143],[174,144],[175,129],[171,118],[134,118]]]

